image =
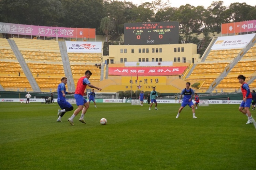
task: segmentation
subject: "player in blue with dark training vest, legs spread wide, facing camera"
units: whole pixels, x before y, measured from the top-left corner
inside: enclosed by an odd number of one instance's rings
[[[194,90],[189,88],[189,87],[190,87],[190,82],[186,82],[186,88],[181,91],[181,96],[180,96],[180,99],[179,99],[179,103],[181,102],[182,95],[184,95],[184,97],[183,97],[182,104],[181,104],[181,107],[178,111],[178,114],[177,114],[176,118],[179,118],[179,115],[180,115],[182,109],[184,107],[186,107],[187,105],[192,108],[193,118],[194,119],[197,118],[196,114],[195,114],[195,107],[194,107],[194,104],[192,102],[192,98],[193,98],[195,93],[194,93]]]

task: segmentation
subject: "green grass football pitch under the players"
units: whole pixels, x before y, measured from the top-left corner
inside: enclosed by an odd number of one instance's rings
[[[176,119],[180,104],[97,107],[71,126],[74,110],[56,122],[57,103],[0,103],[0,169],[256,169],[256,129],[239,105],[199,106],[198,119],[188,106]]]

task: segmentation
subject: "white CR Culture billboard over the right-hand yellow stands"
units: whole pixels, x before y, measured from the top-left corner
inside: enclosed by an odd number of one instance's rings
[[[250,41],[254,36],[255,36],[255,33],[218,37],[217,41],[214,43],[211,49],[220,50],[220,49],[244,48],[248,43],[250,43]]]

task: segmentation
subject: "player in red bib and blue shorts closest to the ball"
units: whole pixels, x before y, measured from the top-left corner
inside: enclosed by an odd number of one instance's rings
[[[89,81],[89,78],[91,77],[92,73],[87,70],[85,72],[85,75],[83,77],[81,77],[78,82],[77,82],[77,85],[76,85],[76,89],[75,89],[75,100],[76,100],[76,105],[78,106],[78,108],[74,111],[73,115],[68,119],[69,123],[71,125],[74,125],[73,124],[73,120],[74,118],[76,117],[76,115],[82,110],[82,114],[81,114],[81,117],[79,119],[80,122],[82,123],[86,123],[84,121],[84,115],[87,111],[87,109],[89,108],[89,104],[87,103],[86,99],[83,98],[83,95],[86,95],[84,93],[85,91],[85,88],[86,86],[88,85],[90,88],[94,88],[94,89],[97,89],[99,91],[101,91],[101,88],[98,88],[98,87],[95,87],[93,86],[90,81]]]

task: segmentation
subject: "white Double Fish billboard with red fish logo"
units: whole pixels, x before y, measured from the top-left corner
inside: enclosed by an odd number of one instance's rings
[[[66,41],[67,52],[101,53],[102,42]]]

